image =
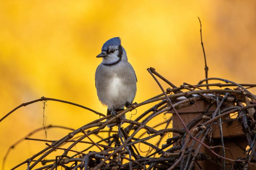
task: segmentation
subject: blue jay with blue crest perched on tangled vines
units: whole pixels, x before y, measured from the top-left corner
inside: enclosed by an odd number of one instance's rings
[[[106,41],[96,58],[102,58],[95,73],[97,96],[108,107],[107,115],[115,116],[117,111],[132,105],[137,91],[137,76],[119,37]],[[122,118],[125,119],[125,115]],[[108,127],[114,125],[109,124]]]

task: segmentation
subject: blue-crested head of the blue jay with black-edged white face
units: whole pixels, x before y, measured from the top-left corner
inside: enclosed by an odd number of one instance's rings
[[[106,41],[101,48],[101,53],[96,57],[102,58],[102,64],[104,65],[114,65],[121,60],[127,60],[126,52],[121,46],[119,37]]]

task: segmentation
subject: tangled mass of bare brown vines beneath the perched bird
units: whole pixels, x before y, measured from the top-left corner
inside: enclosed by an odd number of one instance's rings
[[[154,68],[149,68],[148,72],[162,93],[133,104],[114,117],[72,102],[47,97],[21,104],[0,121],[20,107],[39,101],[72,104],[90,110],[100,115],[100,118],[78,129],[68,128],[72,132],[57,140],[32,138],[35,132],[55,126],[30,132],[9,148],[3,168],[9,152],[15,152],[14,146],[22,140],[42,141],[46,147],[24,162],[17,163],[12,169],[190,170],[205,169],[207,166],[207,169],[248,169],[254,166],[256,101],[248,88],[255,87],[255,84],[208,78],[197,85],[184,83],[176,87]],[[159,78],[170,88],[163,90]],[[203,84],[208,80],[217,80],[219,83]],[[139,109],[143,105],[146,105],[144,111]],[[133,117],[122,119],[121,115],[129,111],[132,111]],[[191,116],[186,118],[188,115],[193,115],[193,119]],[[115,126],[108,128],[110,123],[115,123]],[[233,148],[235,144],[230,142],[234,143],[237,138],[244,140],[238,141],[243,152],[232,154],[236,150]],[[56,150],[58,152],[53,152]]]

